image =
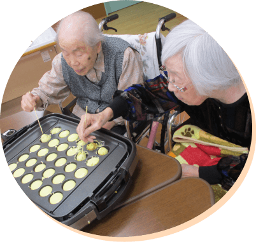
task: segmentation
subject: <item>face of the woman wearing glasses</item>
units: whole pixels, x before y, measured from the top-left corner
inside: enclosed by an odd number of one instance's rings
[[[169,83],[169,91],[173,91],[176,98],[180,99],[188,105],[200,105],[208,98],[207,96],[201,96],[196,93],[192,81],[185,75],[183,69],[183,62],[181,54],[176,54],[173,57],[166,60],[166,71],[168,72],[169,81],[174,81],[174,84],[179,88],[188,86],[188,90],[183,93],[178,90],[172,83]]]

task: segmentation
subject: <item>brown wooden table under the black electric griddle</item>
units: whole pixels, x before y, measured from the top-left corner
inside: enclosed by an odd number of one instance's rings
[[[50,112],[45,112],[49,114]],[[34,112],[19,112],[0,119],[1,133],[19,130],[36,121]],[[139,163],[122,202],[101,220],[82,232],[127,237],[151,234],[178,226],[214,205],[211,186],[201,178],[181,177],[176,159],[136,145]]]

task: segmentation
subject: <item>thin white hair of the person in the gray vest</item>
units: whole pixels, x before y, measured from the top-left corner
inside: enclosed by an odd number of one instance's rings
[[[94,47],[100,41],[104,41],[105,38],[101,30],[99,29],[99,25],[97,24],[94,17],[92,17],[90,13],[79,10],[75,13],[71,13],[71,15],[68,15],[60,20],[59,25],[57,26],[57,35],[55,37],[55,42],[57,42],[57,44],[59,44],[59,32],[63,22],[68,19],[72,19],[72,17],[76,17],[75,24],[77,25],[77,27],[80,27],[80,29],[82,29],[83,41],[86,45]]]

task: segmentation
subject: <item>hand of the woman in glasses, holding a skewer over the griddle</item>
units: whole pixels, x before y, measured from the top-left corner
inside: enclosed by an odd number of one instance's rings
[[[85,122],[86,115],[86,122]],[[95,136],[90,135],[90,133],[99,130],[113,117],[113,111],[107,107],[103,112],[98,114],[83,114],[81,121],[76,128],[76,132],[81,140],[84,142],[93,142]]]

